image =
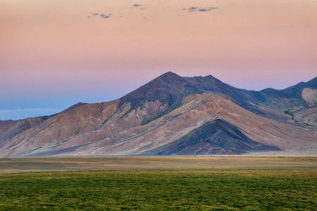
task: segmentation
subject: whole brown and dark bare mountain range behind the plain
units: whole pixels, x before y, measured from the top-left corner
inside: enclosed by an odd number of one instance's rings
[[[212,76],[166,72],[115,101],[77,103],[32,121],[0,121],[0,157],[306,149],[317,145],[316,80],[283,90],[247,91]]]

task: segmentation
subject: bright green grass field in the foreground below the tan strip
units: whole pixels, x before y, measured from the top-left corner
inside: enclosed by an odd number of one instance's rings
[[[317,210],[317,169],[0,174],[0,210]]]

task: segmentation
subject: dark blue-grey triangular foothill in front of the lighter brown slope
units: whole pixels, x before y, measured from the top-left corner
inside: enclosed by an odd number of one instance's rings
[[[140,155],[240,155],[248,151],[279,151],[249,139],[224,120],[207,122],[182,138]]]

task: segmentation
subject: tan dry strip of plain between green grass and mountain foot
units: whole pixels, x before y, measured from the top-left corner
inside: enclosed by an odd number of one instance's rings
[[[317,167],[317,157],[104,156],[2,158],[0,173],[67,170],[208,170]]]

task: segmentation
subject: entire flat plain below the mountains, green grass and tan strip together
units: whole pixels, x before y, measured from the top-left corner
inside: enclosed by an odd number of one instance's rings
[[[0,210],[317,210],[316,198],[313,157],[0,159]]]

